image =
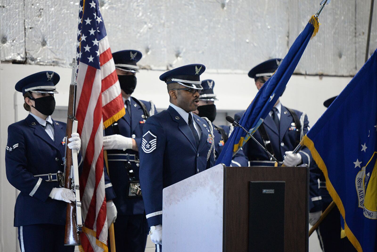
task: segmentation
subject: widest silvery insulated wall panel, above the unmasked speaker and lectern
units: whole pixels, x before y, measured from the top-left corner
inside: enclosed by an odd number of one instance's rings
[[[210,70],[247,72],[287,51],[287,1],[166,3],[167,59],[173,66],[198,62]]]

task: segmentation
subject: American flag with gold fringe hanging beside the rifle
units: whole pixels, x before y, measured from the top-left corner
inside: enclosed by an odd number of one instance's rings
[[[80,250],[107,251],[103,128],[124,116],[118,76],[98,0],[81,0],[77,32],[76,117],[84,164],[80,176]]]

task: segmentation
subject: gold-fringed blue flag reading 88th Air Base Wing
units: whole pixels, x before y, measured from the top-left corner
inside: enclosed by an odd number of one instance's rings
[[[302,139],[357,251],[376,251],[377,50]]]

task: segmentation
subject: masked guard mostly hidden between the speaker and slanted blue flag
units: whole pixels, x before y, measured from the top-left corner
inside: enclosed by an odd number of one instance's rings
[[[202,81],[203,93],[199,96],[198,109],[194,112],[200,117],[206,117],[212,122],[213,135],[215,136],[215,161],[220,155],[225,143],[230,135],[230,126],[221,125],[217,126],[213,124],[216,119],[216,105],[215,100],[216,94],[213,93],[213,88],[215,88],[215,82],[213,80],[203,80]],[[248,160],[244,152],[239,150],[233,157],[230,166],[247,167]]]

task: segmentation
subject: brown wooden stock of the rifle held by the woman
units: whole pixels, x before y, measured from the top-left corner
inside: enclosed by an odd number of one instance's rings
[[[74,67],[74,72],[76,69]],[[76,74],[73,73],[72,74]],[[72,150],[68,148],[68,138],[72,135],[72,126],[75,120],[75,85],[70,85],[69,87],[69,103],[68,103],[68,116],[67,116],[67,131],[66,131],[66,156],[65,156],[65,167],[64,167],[64,187],[67,189],[72,189],[72,178],[71,178],[71,167],[73,165],[72,160]],[[67,203],[66,212],[66,229],[64,235],[64,245],[80,245],[80,236],[77,232],[76,223],[76,204]]]

